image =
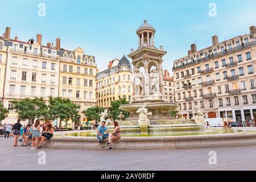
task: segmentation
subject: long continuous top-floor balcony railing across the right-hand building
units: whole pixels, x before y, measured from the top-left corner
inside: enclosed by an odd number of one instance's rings
[[[250,43],[244,44],[242,46],[234,47],[231,50],[218,52],[215,55],[209,55],[208,57],[205,57],[203,59],[195,60],[195,61],[192,61],[190,63],[186,63],[186,64],[183,64],[183,65],[176,66],[176,67],[172,68],[172,70],[176,71],[177,69],[182,69],[182,68],[188,67],[190,65],[195,65],[195,64],[198,64],[198,63],[201,63],[201,62],[204,62],[204,61],[208,61],[208,60],[211,60],[211,59],[216,59],[218,57],[225,56],[225,55],[228,55],[230,53],[234,53],[234,52],[237,52],[237,51],[242,51],[243,49],[246,49],[246,48],[249,48],[249,47],[255,46],[255,45],[256,45],[256,42],[250,42]]]

